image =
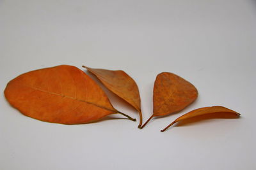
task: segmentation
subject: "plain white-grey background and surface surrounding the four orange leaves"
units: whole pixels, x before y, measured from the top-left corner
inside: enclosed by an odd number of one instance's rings
[[[255,169],[255,57],[253,0],[0,0],[0,169]],[[140,88],[144,122],[158,73],[179,74],[199,96],[143,130],[126,119],[40,122],[4,99],[6,83],[19,74],[60,64],[126,71]],[[107,93],[115,108],[138,119]],[[214,105],[241,118],[160,132]]]

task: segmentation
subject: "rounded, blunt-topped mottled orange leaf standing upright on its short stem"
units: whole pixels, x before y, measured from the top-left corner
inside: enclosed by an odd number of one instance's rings
[[[156,77],[153,93],[154,110],[147,122],[153,118],[183,110],[198,96],[194,85],[173,73],[160,73]]]

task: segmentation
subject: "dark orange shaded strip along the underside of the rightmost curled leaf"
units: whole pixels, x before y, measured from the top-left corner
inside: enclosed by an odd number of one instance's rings
[[[177,122],[175,126],[188,126],[193,124],[198,124],[198,122],[207,122],[209,119],[216,119],[216,118],[239,118],[239,115],[234,115],[234,113],[209,113],[207,115],[200,115],[198,117],[188,118],[187,120],[182,120]]]

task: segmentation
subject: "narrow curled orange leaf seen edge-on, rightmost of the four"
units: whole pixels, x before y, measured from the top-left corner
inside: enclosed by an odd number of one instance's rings
[[[239,113],[236,111],[230,110],[228,108],[225,108],[223,106],[212,106],[212,107],[205,107],[205,108],[199,108],[193,111],[189,111],[189,113],[186,113],[185,115],[182,115],[181,117],[177,118],[172,122],[172,124],[168,125],[166,128],[164,128],[161,132],[166,131],[171,125],[175,124],[179,121],[186,121],[186,120],[192,120],[193,122],[209,119],[209,118],[238,118]],[[191,122],[191,121],[190,121]]]

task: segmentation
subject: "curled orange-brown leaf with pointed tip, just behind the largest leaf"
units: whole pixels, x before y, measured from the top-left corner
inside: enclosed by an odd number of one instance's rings
[[[131,104],[140,114],[140,124],[142,124],[142,114],[140,107],[140,92],[136,82],[122,70],[112,71],[108,69],[93,69],[83,66],[91,73],[95,74],[97,78],[117,96],[124,99]]]

